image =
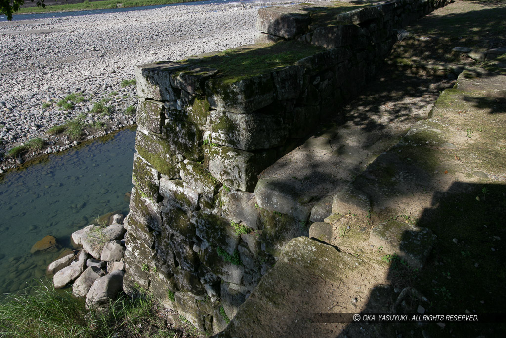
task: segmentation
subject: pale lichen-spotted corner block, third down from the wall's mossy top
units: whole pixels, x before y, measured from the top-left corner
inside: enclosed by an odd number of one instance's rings
[[[252,191],[257,175],[274,160],[273,152],[251,154],[229,147],[214,147],[209,151],[209,172],[233,189]]]

